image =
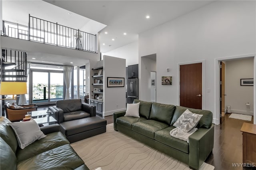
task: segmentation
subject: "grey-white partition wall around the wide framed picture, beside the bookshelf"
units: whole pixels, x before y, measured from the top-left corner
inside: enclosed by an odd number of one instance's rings
[[[104,55],[103,57],[103,116],[126,110],[126,87],[107,87],[108,77],[126,76],[125,59]],[[124,79],[126,81],[126,79]],[[124,82],[125,83],[125,82]]]

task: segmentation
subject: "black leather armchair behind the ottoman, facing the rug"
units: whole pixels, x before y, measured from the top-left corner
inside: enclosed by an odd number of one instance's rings
[[[56,106],[50,106],[49,109],[54,113],[53,117],[58,124],[96,116],[96,107],[87,103],[82,103],[81,99],[56,101]]]

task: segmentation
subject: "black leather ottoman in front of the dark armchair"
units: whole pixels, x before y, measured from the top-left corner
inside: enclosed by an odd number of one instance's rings
[[[107,121],[101,117],[87,117],[60,123],[60,131],[70,143],[106,132]]]

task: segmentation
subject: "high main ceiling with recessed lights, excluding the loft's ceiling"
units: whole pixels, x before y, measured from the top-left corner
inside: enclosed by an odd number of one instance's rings
[[[101,52],[108,52],[137,41],[139,33],[213,2],[208,0],[45,1],[107,25],[100,35]],[[146,19],[147,15],[150,18]],[[108,32],[108,34],[104,34],[104,32]],[[124,32],[126,32],[126,35],[123,34]]]

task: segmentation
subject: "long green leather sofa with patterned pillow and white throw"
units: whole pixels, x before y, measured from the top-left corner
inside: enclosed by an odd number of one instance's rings
[[[138,102],[140,118],[124,117],[125,111],[114,113],[114,129],[199,169],[213,148],[212,112],[134,100]],[[172,125],[186,109],[203,115],[188,142],[170,136],[170,130],[175,128]]]

